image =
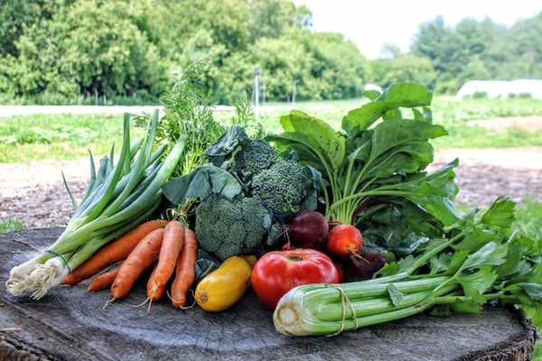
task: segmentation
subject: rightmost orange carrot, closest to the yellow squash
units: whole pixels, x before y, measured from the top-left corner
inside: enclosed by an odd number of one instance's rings
[[[182,309],[186,302],[186,292],[196,278],[195,266],[198,259],[198,243],[192,229],[184,229],[184,245],[177,260],[175,278],[172,283],[171,299],[173,307]]]

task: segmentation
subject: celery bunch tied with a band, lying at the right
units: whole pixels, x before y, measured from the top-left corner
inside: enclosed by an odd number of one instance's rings
[[[542,240],[511,231],[513,208],[500,198],[481,217],[472,212],[379,278],[295,287],[278,302],[276,330],[334,335],[425,310],[479,313],[485,304],[520,307],[542,327]]]

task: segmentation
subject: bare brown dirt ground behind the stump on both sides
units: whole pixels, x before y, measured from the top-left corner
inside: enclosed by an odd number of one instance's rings
[[[541,117],[477,121],[482,126],[542,128]],[[428,171],[458,158],[458,204],[489,206],[501,195],[518,203],[526,197],[542,202],[542,147],[462,150],[435,154]],[[61,227],[73,208],[64,188],[64,173],[75,199],[82,198],[89,181],[89,161],[0,163],[0,221],[16,219],[26,228]]]

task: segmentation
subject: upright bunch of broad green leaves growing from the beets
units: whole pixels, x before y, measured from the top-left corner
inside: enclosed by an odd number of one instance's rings
[[[434,157],[430,140],[447,134],[432,124],[427,88],[399,83],[366,94],[372,100],[350,110],[340,131],[294,110],[280,119],[284,133],[266,139],[322,173],[326,218],[360,227],[366,245],[406,255],[426,240],[419,235],[440,235],[458,220],[458,162],[425,171]]]

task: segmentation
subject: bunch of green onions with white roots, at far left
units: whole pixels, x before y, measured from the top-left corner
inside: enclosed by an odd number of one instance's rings
[[[31,260],[15,266],[6,282],[15,296],[29,293],[40,299],[53,286],[82,264],[98,248],[123,235],[149,218],[163,200],[162,185],[181,161],[186,146],[182,134],[163,159],[165,146],[154,149],[158,110],[143,140],[130,143],[130,117],[124,118],[124,132],[117,164],[110,158],[100,161],[98,174],[90,154],[89,188],[76,207],[61,236]],[[75,201],[71,196],[72,203]]]

